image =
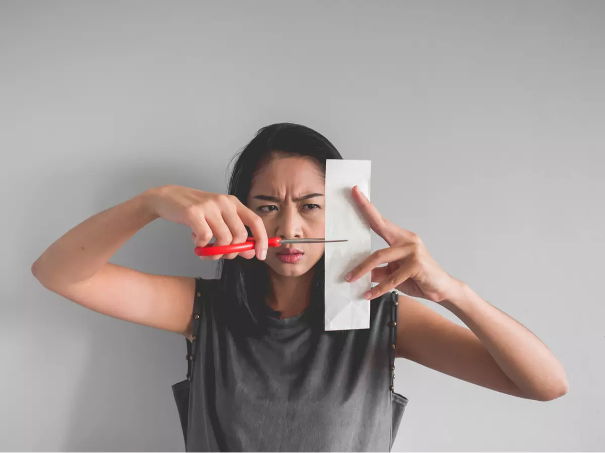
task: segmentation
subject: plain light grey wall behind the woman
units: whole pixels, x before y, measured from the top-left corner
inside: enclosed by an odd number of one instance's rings
[[[0,449],[183,449],[185,341],[30,265],[148,187],[224,191],[276,121],[371,159],[379,210],[567,370],[538,403],[399,361],[394,451],[605,449],[604,2],[1,1],[0,65]],[[113,260],[214,273],[164,220]]]

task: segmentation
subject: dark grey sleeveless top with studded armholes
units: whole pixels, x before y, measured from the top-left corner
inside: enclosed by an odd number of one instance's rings
[[[309,310],[230,327],[218,280],[196,280],[188,379],[172,386],[187,451],[390,451],[407,399],[394,393],[397,294],[370,329],[325,332]]]

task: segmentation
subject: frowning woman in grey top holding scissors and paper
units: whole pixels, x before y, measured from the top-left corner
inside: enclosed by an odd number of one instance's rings
[[[395,357],[514,396],[566,393],[561,364],[538,338],[446,274],[416,234],[384,219],[356,188],[388,247],[347,275],[371,272],[378,283],[365,295],[370,329],[325,332],[324,245],[267,249],[267,236],[324,237],[325,159],[341,156],[318,132],[264,127],[235,162],[229,195],[147,190],[66,233],[33,274],[82,306],[188,338],[189,380],[175,396],[191,386],[181,414],[189,451],[387,451],[407,402],[394,393]],[[158,217],[190,226],[195,246],[251,233],[256,248],[212,257],[223,259],[219,280],[108,262]],[[394,289],[446,307],[469,329]]]

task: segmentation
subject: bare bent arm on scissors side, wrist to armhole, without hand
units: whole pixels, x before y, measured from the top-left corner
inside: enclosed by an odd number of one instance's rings
[[[124,321],[188,335],[195,280],[152,275],[108,260],[159,216],[142,194],[80,223],[51,244],[31,271],[50,291]]]

